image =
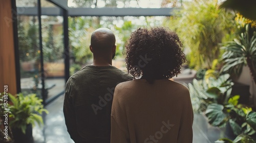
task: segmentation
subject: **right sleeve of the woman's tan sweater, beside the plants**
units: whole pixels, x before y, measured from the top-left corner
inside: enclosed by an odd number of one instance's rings
[[[193,108],[189,96],[188,89],[186,90],[185,97],[184,97],[184,107],[182,110],[181,121],[180,121],[180,128],[178,133],[178,143],[191,143],[193,142]]]

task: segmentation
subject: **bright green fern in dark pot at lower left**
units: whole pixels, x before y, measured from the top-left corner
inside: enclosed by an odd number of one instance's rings
[[[44,124],[41,114],[48,113],[41,104],[42,100],[36,94],[24,96],[22,93],[17,97],[9,94],[10,101],[10,127],[12,129],[15,142],[32,142],[32,126],[37,123],[39,126]]]

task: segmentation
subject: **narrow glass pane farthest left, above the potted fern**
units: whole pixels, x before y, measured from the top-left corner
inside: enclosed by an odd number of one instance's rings
[[[41,96],[40,51],[37,16],[17,16],[20,84],[23,93]]]

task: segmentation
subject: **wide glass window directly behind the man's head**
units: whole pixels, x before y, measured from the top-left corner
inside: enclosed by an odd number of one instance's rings
[[[73,75],[81,67],[91,64],[92,53],[89,49],[91,34],[94,30],[105,27],[111,29],[116,36],[116,57],[113,65],[122,70],[126,70],[123,55],[124,45],[130,37],[131,32],[139,27],[163,26],[166,16],[80,16],[69,18],[69,38],[70,38],[70,74]]]

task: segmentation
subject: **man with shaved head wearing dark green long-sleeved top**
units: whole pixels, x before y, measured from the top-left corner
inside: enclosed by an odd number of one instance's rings
[[[132,76],[112,66],[116,52],[114,33],[99,28],[92,33],[93,63],[71,76],[65,86],[63,112],[75,142],[110,142],[113,92]]]

